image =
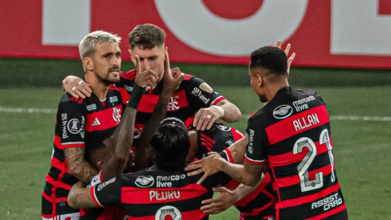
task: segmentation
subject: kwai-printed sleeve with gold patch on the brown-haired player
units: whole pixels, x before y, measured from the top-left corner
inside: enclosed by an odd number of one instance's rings
[[[215,105],[219,101],[226,99],[213,91],[212,87],[204,80],[197,77],[189,79],[185,92],[189,103],[198,109]]]

